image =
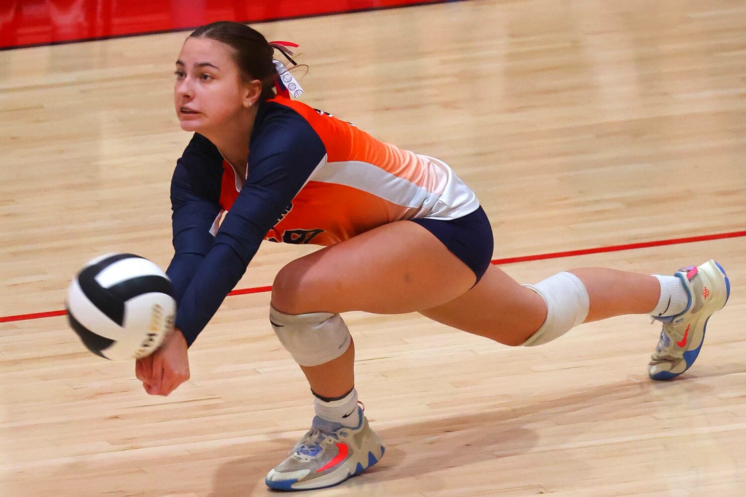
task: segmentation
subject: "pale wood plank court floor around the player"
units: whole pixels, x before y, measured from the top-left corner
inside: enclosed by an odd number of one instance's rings
[[[437,156],[477,192],[495,258],[746,229],[742,0],[474,0],[258,25],[301,44],[304,101]],[[0,52],[0,316],[63,307],[93,256],[168,265],[168,188],[189,139],[172,110],[186,34]],[[732,282],[695,367],[645,365],[642,316],[511,349],[418,314],[345,318],[357,387],[388,444],[319,496],[743,496],[744,238],[504,267]],[[237,288],[315,250],[268,244]],[[147,396],[134,365],[84,351],[64,317],[0,324],[0,496],[269,495],[312,416],[266,323],[229,297],[192,379]]]

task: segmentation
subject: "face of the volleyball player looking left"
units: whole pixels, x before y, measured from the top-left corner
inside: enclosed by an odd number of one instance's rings
[[[220,130],[245,109],[245,86],[232,48],[189,37],[176,61],[174,105],[184,131]]]

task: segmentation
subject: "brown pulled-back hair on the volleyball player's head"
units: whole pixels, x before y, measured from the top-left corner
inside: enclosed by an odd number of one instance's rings
[[[244,79],[262,82],[263,100],[275,96],[273,88],[278,77],[275,63],[272,62],[275,49],[259,31],[240,22],[218,21],[195,29],[189,37],[210,38],[231,46],[233,60]]]

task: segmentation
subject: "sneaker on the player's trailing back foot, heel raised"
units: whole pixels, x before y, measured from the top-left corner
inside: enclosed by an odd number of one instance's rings
[[[663,323],[648,365],[648,374],[654,380],[676,378],[692,367],[702,348],[707,320],[725,306],[730,296],[725,270],[712,259],[697,268],[680,269],[674,276],[683,282],[689,303],[675,316],[653,316],[653,320]]]

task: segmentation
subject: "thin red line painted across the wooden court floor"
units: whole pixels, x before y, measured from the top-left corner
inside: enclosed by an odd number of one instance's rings
[[[540,261],[543,259],[560,259],[561,257],[573,257],[573,256],[585,256],[591,253],[606,253],[606,252],[620,252],[621,250],[633,250],[640,248],[649,247],[664,247],[665,245],[676,245],[676,244],[690,244],[696,241],[712,241],[712,240],[723,240],[725,238],[739,238],[746,236],[746,230],[733,231],[728,233],[716,233],[715,235],[699,235],[699,236],[686,236],[684,238],[671,238],[668,240],[655,240],[655,241],[641,241],[634,244],[621,244],[621,245],[607,245],[606,247],[595,247],[580,250],[565,250],[564,252],[549,252],[539,253],[533,256],[520,256],[520,257],[506,257],[504,259],[494,259],[492,264],[505,265],[513,264],[515,262],[529,262],[529,261]],[[239,288],[233,290],[228,296],[231,295],[245,295],[245,294],[261,294],[266,291],[271,291],[271,286],[259,286],[254,288]],[[53,317],[53,316],[64,316],[67,314],[66,311],[46,311],[46,312],[34,312],[32,314],[18,314],[16,316],[1,316],[0,323],[10,323],[13,321],[23,321],[31,319],[40,319],[41,317]]]

